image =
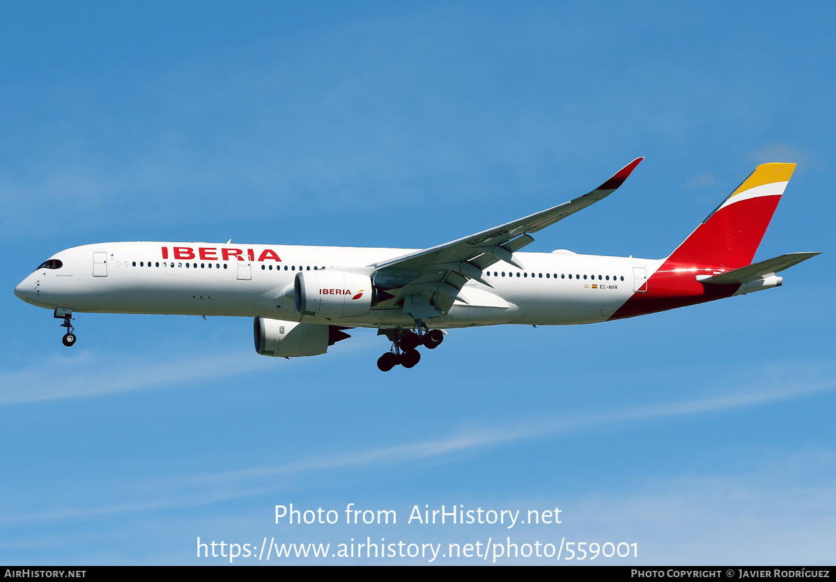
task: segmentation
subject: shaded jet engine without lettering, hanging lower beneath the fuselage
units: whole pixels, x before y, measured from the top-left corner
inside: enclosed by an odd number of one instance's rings
[[[343,326],[321,323],[296,323],[267,317],[256,317],[252,322],[256,352],[262,356],[300,357],[319,356],[328,347],[349,338]]]

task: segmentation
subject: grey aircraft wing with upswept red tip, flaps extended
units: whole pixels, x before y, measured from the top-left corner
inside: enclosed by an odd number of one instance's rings
[[[391,308],[404,300],[404,312],[415,316],[415,319],[441,316],[450,310],[467,281],[473,279],[491,286],[482,278],[482,270],[488,266],[506,261],[524,269],[513,254],[534,241],[530,233],[604,200],[624,183],[642,159],[634,159],[595,190],[562,205],[475,235],[371,265],[375,268],[375,285],[393,296],[381,308]],[[460,301],[464,299],[460,298]]]

